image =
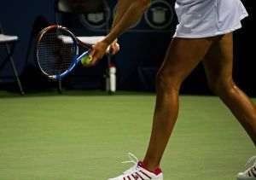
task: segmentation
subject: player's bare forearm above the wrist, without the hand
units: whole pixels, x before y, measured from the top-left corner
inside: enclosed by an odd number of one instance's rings
[[[126,0],[126,2],[127,1],[128,0]],[[104,39],[106,43],[111,44],[116,38],[119,37],[120,34],[125,32],[125,30],[127,30],[130,26],[134,25],[143,15],[145,10],[148,9],[150,0],[130,1],[130,3],[130,7],[125,10],[122,17],[119,17],[119,20],[115,20],[116,24],[113,26],[108,36]]]

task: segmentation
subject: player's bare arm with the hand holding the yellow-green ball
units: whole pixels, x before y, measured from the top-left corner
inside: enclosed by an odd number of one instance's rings
[[[92,64],[105,55],[108,45],[112,44],[115,39],[130,26],[137,23],[137,20],[148,9],[150,0],[119,0],[117,14],[113,20],[113,26],[107,37],[97,43],[92,50]]]

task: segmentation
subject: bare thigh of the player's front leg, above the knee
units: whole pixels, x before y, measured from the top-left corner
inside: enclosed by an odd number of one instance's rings
[[[173,38],[158,77],[182,82],[207,54],[215,38]]]

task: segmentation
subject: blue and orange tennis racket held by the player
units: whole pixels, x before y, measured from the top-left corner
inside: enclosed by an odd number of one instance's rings
[[[62,79],[83,61],[90,61],[88,44],[77,38],[64,26],[48,26],[38,34],[36,54],[38,67],[49,78]],[[83,53],[79,54],[79,48]],[[81,51],[81,50],[80,50]]]

